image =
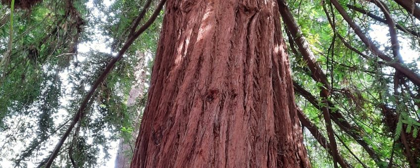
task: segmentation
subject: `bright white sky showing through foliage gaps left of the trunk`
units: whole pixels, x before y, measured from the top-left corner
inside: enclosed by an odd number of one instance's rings
[[[113,3],[113,0],[104,0],[103,1],[105,6],[108,7]],[[87,6],[90,8],[93,8],[93,0],[89,0],[87,3]],[[92,15],[93,17],[98,17],[98,18],[102,18],[102,21],[105,22],[106,18],[103,17],[104,14],[102,14],[100,11],[98,10],[93,10],[92,11]],[[105,52],[105,53],[110,53],[112,55],[115,55],[115,53],[111,53],[111,49],[109,47],[106,47],[106,43],[110,43],[109,41],[106,41],[104,36],[101,35],[101,31],[98,29],[98,27],[93,27],[93,28],[88,28],[88,29],[93,29],[95,32],[95,36],[93,37],[93,39],[95,39],[93,42],[85,42],[85,43],[81,43],[78,45],[78,51],[81,53],[77,56],[78,61],[83,62],[86,57],[83,56],[83,53],[88,53],[90,50],[96,50],[96,51],[100,51],[100,52]],[[44,69],[46,69],[47,67],[44,67]],[[62,88],[64,92],[71,92],[71,85],[69,85],[68,82],[68,74],[69,72],[67,70],[64,70],[62,73],[60,73],[60,78],[62,80]],[[85,88],[86,90],[89,90],[89,88]],[[60,102],[62,104],[62,106],[67,106],[69,104],[69,97],[62,97],[60,99]],[[65,109],[59,109],[58,113],[54,115],[54,124],[55,126],[59,126],[62,123],[65,122],[66,119],[64,119],[62,116],[67,116],[66,114],[68,114],[68,112]],[[22,119],[20,122],[16,122],[18,120],[15,119]],[[6,140],[6,136],[7,135],[13,135],[14,131],[17,131],[17,127],[20,126],[20,124],[25,124],[25,125],[31,125],[31,123],[37,123],[37,120],[35,118],[30,118],[26,115],[21,115],[21,116],[14,116],[12,118],[10,118],[9,120],[5,120],[5,123],[7,123],[10,126],[16,126],[16,128],[12,128],[9,129],[8,132],[0,132],[0,139],[2,140]],[[67,126],[63,127],[66,128]],[[62,129],[63,129],[62,128]],[[105,132],[105,136],[111,136],[110,132]],[[8,149],[8,150],[4,150],[4,151],[0,151],[0,156],[4,155],[7,158],[0,158],[0,168],[13,168],[13,162],[11,161],[12,159],[15,159],[15,155],[17,153],[20,153],[23,149],[25,149],[25,147],[28,146],[28,143],[30,142],[30,140],[32,138],[27,138],[28,140],[25,142],[20,142],[20,141],[12,141],[11,143],[7,144],[12,146],[12,148]],[[56,145],[56,143],[58,142],[59,137],[57,136],[53,136],[49,139],[49,142],[46,144],[47,145],[47,150],[45,151],[38,151],[37,157],[36,158],[32,158],[30,162],[27,162],[27,168],[36,168],[38,165],[34,164],[36,162],[39,162],[41,159],[45,158],[46,156],[48,156],[49,152],[52,151],[52,149],[54,148],[54,146]],[[92,139],[91,139],[92,140]],[[89,140],[88,140],[89,141]],[[3,143],[0,142],[0,145],[3,145]],[[110,154],[110,158],[108,161],[106,161],[105,165],[100,166],[99,168],[113,168],[114,167],[114,161],[116,158],[116,153],[118,150],[118,141],[113,141],[110,142],[110,150],[108,151]],[[101,161],[101,159],[105,156],[105,153],[102,151],[100,152],[100,156],[99,161]]]

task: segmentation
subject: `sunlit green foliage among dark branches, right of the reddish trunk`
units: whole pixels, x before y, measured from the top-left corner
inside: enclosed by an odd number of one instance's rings
[[[332,85],[331,101],[334,105],[330,108],[332,113],[338,112],[343,115],[346,121],[349,121],[353,126],[358,127],[354,130],[363,135],[363,140],[366,141],[370,147],[382,159],[380,163],[374,163],[368,153],[361,148],[360,144],[339,126],[334,125],[334,131],[339,134],[340,138],[349,146],[352,152],[367,166],[367,167],[387,167],[391,155],[393,139],[399,140],[401,132],[405,132],[411,137],[418,137],[419,118],[419,86],[411,84],[407,79],[405,82],[400,81],[398,88],[399,95],[394,94],[394,70],[388,68],[386,65],[379,63],[381,60],[376,58],[363,44],[360,39],[354,34],[354,31],[348,26],[341,15],[334,9],[330,8],[329,1],[322,1],[330,16],[335,18],[336,34],[342,36],[355,49],[368,55],[368,58],[362,57],[354,50],[349,49],[341,42],[340,39],[335,39],[334,30],[328,23],[325,12],[319,1],[293,1],[288,0],[289,7],[297,20],[298,25],[302,30],[302,35],[309,42],[311,50],[315,54],[317,63],[326,74],[328,82]],[[372,37],[373,42],[379,46],[381,50],[392,57],[392,49],[389,41],[389,34],[384,33],[388,28],[384,23],[378,22],[367,15],[349,9],[346,5],[351,4],[362,7],[369,12],[383,17],[383,13],[377,6],[368,1],[351,1],[339,0],[350,17],[354,19],[362,31]],[[415,23],[416,19],[409,16],[404,9],[396,4],[394,1],[385,1],[386,5],[391,9],[393,18],[401,26],[405,28],[418,29],[419,24]],[[411,17],[411,18],[410,18]],[[378,29],[377,27],[380,27]],[[398,30],[399,31],[399,30]],[[419,53],[420,48],[418,37],[408,35],[405,32],[398,32],[399,40],[402,46],[401,54],[404,59],[410,56],[410,52]],[[384,37],[385,39],[378,39],[376,37]],[[287,39],[290,37],[286,37]],[[334,47],[331,48],[331,44]],[[300,53],[294,53],[289,45],[289,54],[291,60],[291,67],[293,71],[293,80],[306,90],[310,91],[316,97],[317,106],[326,107],[319,97],[319,88],[323,86],[321,83],[315,82],[310,76],[311,73],[307,68],[307,63],[302,60]],[[295,47],[297,48],[296,44]],[[332,55],[334,53],[334,55]],[[419,60],[413,59],[405,60],[405,66],[409,67],[413,72],[419,73]],[[405,83],[405,84],[404,84]],[[296,93],[296,92],[295,92]],[[297,104],[302,107],[307,117],[321,130],[326,136],[325,124],[321,112],[315,108],[308,100],[300,94],[296,94]],[[417,104],[416,104],[417,103]],[[381,105],[389,108],[390,113],[384,114]],[[342,121],[342,120],[340,120]],[[306,132],[308,136],[310,135]],[[397,165],[407,164],[406,156],[402,153],[404,146],[396,145],[393,161],[395,167]],[[316,143],[306,143],[309,155],[316,158],[319,153],[311,153],[312,148],[317,149]],[[339,151],[346,161],[356,167],[362,167],[358,161],[343,147],[343,144],[338,144]],[[324,149],[322,149],[324,150]],[[321,155],[322,157],[323,155]],[[312,163],[315,168],[332,167],[331,159],[326,161],[322,158],[313,159]],[[329,164],[329,165],[328,165]]]

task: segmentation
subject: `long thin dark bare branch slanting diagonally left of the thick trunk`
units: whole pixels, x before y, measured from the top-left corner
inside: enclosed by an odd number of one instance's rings
[[[99,78],[95,81],[95,83],[92,85],[91,89],[89,90],[89,92],[87,93],[87,95],[85,96],[83,102],[80,105],[79,110],[77,110],[76,114],[73,117],[73,120],[70,124],[70,126],[68,126],[67,130],[65,131],[65,133],[62,135],[62,137],[60,138],[60,140],[58,141],[57,145],[55,146],[54,150],[52,151],[52,154],[48,160],[48,162],[46,163],[45,168],[50,168],[52,165],[52,162],[54,161],[55,157],[57,156],[58,152],[60,151],[61,146],[63,145],[64,141],[67,139],[68,135],[70,134],[71,130],[73,129],[73,127],[79,122],[80,117],[83,115],[85,108],[87,107],[87,104],[90,100],[90,98],[92,97],[92,95],[95,93],[96,89],[98,88],[98,86],[105,80],[106,76],[109,74],[109,72],[113,69],[115,63],[117,63],[122,56],[124,55],[125,51],[127,51],[127,49],[130,47],[130,45],[147,29],[150,27],[150,25],[152,25],[152,23],[156,20],[157,16],[160,13],[160,10],[163,7],[163,4],[165,3],[166,0],[161,0],[159,5],[157,6],[157,9],[154,11],[154,13],[152,14],[152,16],[149,18],[149,20],[142,26],[139,28],[138,31],[136,31],[133,36],[128,37],[127,41],[125,42],[125,44],[122,46],[122,48],[119,50],[119,52],[117,53],[117,55],[109,62],[109,64],[106,66],[104,72],[99,76]],[[133,29],[136,29],[137,27],[133,27]],[[42,165],[40,165],[42,166]]]

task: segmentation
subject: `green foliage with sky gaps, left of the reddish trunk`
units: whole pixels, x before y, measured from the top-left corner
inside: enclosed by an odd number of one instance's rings
[[[95,46],[91,51],[79,53],[75,48],[99,43],[117,51],[121,44],[114,42],[125,41],[124,30],[143,3],[116,0],[106,6],[103,1],[44,0],[31,10],[14,10],[10,63],[7,69],[0,70],[6,74],[0,83],[0,137],[5,137],[0,144],[0,162],[13,161],[18,167],[43,162],[86,90],[112,58],[112,53]],[[146,19],[153,11],[151,8]],[[1,20],[9,10],[1,4],[0,9]],[[83,22],[78,21],[79,17]],[[161,21],[159,16],[157,23],[126,52],[91,99],[80,129],[73,131],[65,142],[62,149],[73,145],[71,156],[78,167],[105,164],[111,157],[108,151],[115,147],[110,146],[111,142],[120,137],[132,138],[130,133],[136,129],[133,123],[139,119],[134,112],[144,106],[144,97],[135,107],[126,105],[136,80],[137,63],[144,59],[136,51],[154,55]],[[9,25],[7,21],[0,25],[0,53],[8,47]],[[104,41],[98,42],[98,38]],[[146,62],[148,72],[152,60]],[[13,149],[14,145],[22,147]],[[66,150],[59,155],[53,167],[73,167]]]

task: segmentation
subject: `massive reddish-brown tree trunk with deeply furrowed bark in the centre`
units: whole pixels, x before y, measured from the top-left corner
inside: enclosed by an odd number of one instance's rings
[[[132,168],[310,167],[276,0],[169,0]]]

